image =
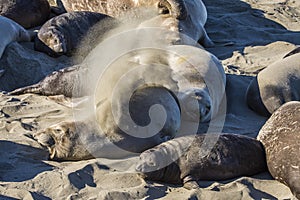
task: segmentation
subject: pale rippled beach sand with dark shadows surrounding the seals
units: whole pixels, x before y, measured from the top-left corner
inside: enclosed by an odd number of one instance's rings
[[[245,104],[252,76],[300,45],[299,0],[205,0],[206,25],[217,46],[207,49],[226,67],[224,132],[256,137],[266,118]],[[222,46],[225,43],[233,45]],[[211,182],[201,189],[144,181],[132,171],[135,158],[47,161],[30,135],[72,118],[71,108],[53,98],[0,96],[0,199],[293,199],[288,187],[267,173]],[[246,158],[245,158],[246,159]],[[126,162],[128,161],[128,162]],[[124,171],[127,169],[127,171]]]

